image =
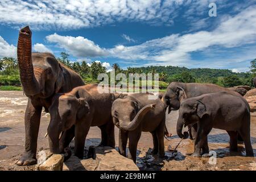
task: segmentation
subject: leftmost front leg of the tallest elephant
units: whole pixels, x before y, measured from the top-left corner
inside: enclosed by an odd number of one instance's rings
[[[36,148],[38,146],[37,142],[41,112],[42,106],[33,106],[30,98],[28,98],[25,113],[25,152],[16,163],[19,166],[36,164]]]

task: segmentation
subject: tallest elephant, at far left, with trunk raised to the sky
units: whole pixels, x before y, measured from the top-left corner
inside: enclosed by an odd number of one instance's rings
[[[16,164],[36,164],[36,147],[42,107],[48,111],[55,93],[84,85],[82,78],[59,63],[51,53],[31,53],[30,28],[19,31],[17,55],[20,81],[28,97],[25,113],[25,152]]]

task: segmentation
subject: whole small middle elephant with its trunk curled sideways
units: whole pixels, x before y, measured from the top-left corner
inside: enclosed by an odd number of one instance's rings
[[[164,157],[164,104],[157,98],[148,100],[150,94],[131,94],[118,98],[112,105],[112,117],[119,128],[119,153],[126,157],[129,139],[129,158],[136,162],[137,144],[142,131],[152,134],[154,148],[152,154]]]

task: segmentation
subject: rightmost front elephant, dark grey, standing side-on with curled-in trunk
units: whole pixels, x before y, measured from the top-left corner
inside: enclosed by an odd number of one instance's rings
[[[212,128],[228,132],[230,151],[237,151],[237,134],[239,133],[245,142],[246,155],[254,155],[250,141],[250,106],[244,98],[227,92],[217,92],[182,101],[177,121],[177,135],[185,138],[185,133],[181,133],[183,125],[185,127],[196,122],[198,129],[192,156],[208,156],[207,135]]]

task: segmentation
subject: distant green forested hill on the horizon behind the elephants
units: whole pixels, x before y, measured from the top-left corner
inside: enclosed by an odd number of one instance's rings
[[[234,73],[229,69],[210,68],[185,68],[169,66],[150,66],[131,68],[137,73],[159,73],[161,81],[181,81],[181,82],[202,82],[212,83],[220,86],[249,85],[253,86],[250,72]],[[128,68],[129,70],[129,68]]]

